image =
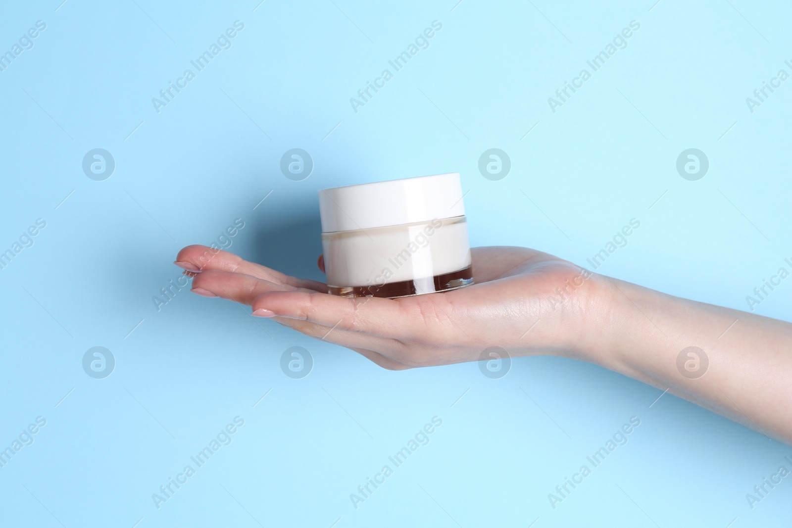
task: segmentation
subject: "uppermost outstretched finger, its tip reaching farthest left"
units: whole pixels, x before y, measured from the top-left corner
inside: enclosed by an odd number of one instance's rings
[[[176,256],[174,264],[186,269],[188,272],[217,270],[244,273],[258,279],[268,280],[271,283],[288,284],[293,287],[308,288],[314,291],[327,291],[327,286],[324,283],[309,279],[297,279],[261,264],[244,260],[241,256],[234,255],[234,253],[229,253],[222,249],[209,248],[205,245],[188,245],[186,248],[181,249]]]

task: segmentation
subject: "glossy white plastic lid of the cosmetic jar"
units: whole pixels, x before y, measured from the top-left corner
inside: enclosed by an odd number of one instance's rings
[[[459,173],[319,189],[322,232],[463,216],[462,197]]]

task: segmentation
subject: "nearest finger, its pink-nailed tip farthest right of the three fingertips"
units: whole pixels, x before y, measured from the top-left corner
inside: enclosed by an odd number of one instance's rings
[[[253,312],[310,321],[372,336],[408,336],[417,326],[405,303],[376,297],[346,298],[314,291],[268,291],[253,301]],[[261,313],[261,312],[260,312]]]

